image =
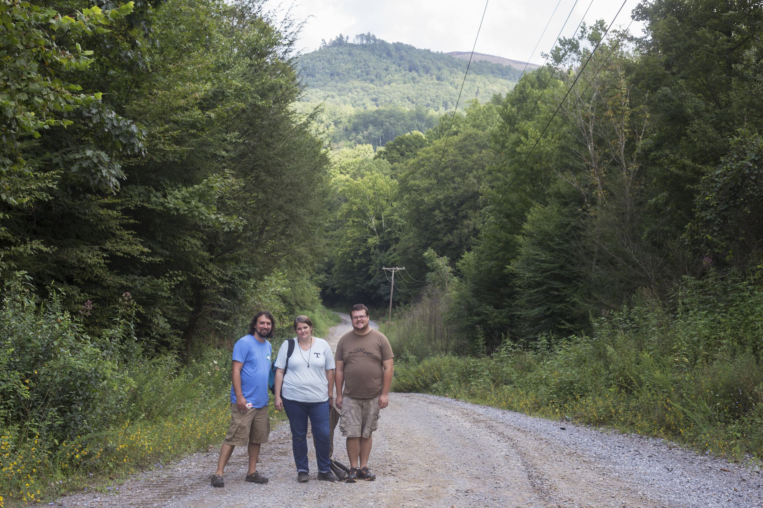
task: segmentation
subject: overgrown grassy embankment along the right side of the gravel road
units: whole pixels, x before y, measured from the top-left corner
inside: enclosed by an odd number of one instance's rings
[[[398,319],[394,391],[425,392],[671,439],[732,460],[763,457],[763,290],[688,283],[670,311],[642,298],[590,335],[504,343],[491,356],[436,350]],[[417,328],[418,327],[418,328]],[[411,339],[411,330],[419,330]],[[402,340],[403,331],[406,340]],[[457,341],[454,340],[454,343]]]

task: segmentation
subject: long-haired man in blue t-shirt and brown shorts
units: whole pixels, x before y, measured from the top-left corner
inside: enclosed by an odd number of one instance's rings
[[[233,385],[230,387],[230,428],[220,449],[217,472],[212,487],[224,487],[223,469],[236,446],[249,450],[249,472],[246,481],[265,484],[268,478],[256,471],[259,446],[268,442],[268,375],[275,320],[267,311],[260,311],[249,324],[249,335],[233,346]]]

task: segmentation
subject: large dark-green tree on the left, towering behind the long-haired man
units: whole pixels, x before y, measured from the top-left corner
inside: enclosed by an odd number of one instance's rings
[[[6,262],[89,301],[95,329],[129,292],[160,347],[233,333],[259,281],[316,254],[325,210],[327,155],[290,107],[294,28],[261,2],[172,0],[97,34],[65,77],[103,98],[27,146],[55,187],[31,212],[8,205],[37,248]]]

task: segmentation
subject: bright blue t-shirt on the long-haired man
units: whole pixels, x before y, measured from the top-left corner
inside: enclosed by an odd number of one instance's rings
[[[272,350],[272,344],[268,340],[260,343],[253,335],[241,337],[233,346],[233,361],[243,363],[241,395],[257,409],[268,405],[268,375]],[[236,404],[233,383],[230,385],[230,404]]]

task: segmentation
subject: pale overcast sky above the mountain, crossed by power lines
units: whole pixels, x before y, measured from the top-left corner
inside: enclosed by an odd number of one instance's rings
[[[268,0],[270,8],[280,4],[288,8],[288,0]],[[557,4],[559,7],[556,8]],[[627,0],[615,26],[627,26],[630,14],[639,0]],[[565,24],[575,0],[490,0],[485,22],[477,40],[477,53],[542,63],[540,53],[547,53],[562,25]],[[580,23],[588,5],[591,9],[586,22],[603,18],[609,24],[622,0],[578,0],[569,21],[562,31],[571,36]],[[306,20],[301,45],[304,51],[317,49],[321,39],[329,40],[338,34],[371,32],[388,42],[402,42],[433,51],[471,51],[485,2],[482,0],[296,0],[291,8],[295,18]],[[556,12],[552,17],[552,13]],[[540,34],[549,22],[546,34]],[[633,23],[631,32],[641,35],[642,26]]]

